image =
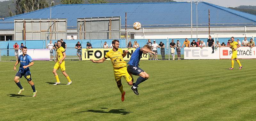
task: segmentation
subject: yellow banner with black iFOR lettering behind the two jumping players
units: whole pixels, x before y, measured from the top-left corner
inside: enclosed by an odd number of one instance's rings
[[[100,60],[103,58],[106,53],[111,50],[112,48],[107,48],[107,49],[82,49],[82,60]],[[124,60],[130,60],[132,53],[136,50],[135,48],[121,48],[123,51],[128,50],[129,52],[127,55],[124,57]],[[107,60],[110,60],[109,58]],[[142,54],[142,58],[140,60],[148,60],[148,53],[147,54]]]

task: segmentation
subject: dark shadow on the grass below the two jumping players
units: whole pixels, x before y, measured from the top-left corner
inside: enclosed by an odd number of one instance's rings
[[[101,109],[108,109],[108,108],[101,108]],[[82,112],[95,112],[95,113],[113,113],[113,114],[121,114],[121,115],[127,115],[130,113],[133,113],[131,111],[125,111],[125,109],[111,109],[109,111],[103,111],[103,110],[87,110],[87,111],[80,111],[75,113],[82,113]]]

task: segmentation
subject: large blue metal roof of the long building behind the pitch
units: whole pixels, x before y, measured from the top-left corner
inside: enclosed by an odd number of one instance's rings
[[[121,17],[121,27],[140,22],[142,27],[190,26],[190,3],[106,3],[106,4],[60,4],[52,6],[52,18],[67,18],[68,29],[76,28],[77,18]],[[192,4],[193,26],[196,26],[196,4]],[[256,16],[218,5],[202,2],[197,4],[198,26],[208,26],[210,9],[211,26],[256,26]],[[0,20],[0,30],[14,29],[14,19],[50,18],[50,8],[36,10]],[[2,23],[11,22],[11,23]]]

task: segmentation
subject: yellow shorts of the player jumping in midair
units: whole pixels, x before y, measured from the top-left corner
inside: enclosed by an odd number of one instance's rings
[[[119,81],[121,77],[124,77],[127,82],[132,81],[132,77],[127,72],[126,66],[120,67],[118,69],[114,69],[114,76],[115,76],[116,82]]]

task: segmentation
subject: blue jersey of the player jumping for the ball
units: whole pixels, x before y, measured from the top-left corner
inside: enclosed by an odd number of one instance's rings
[[[132,66],[139,66],[139,62],[140,62],[140,58],[143,54],[142,51],[140,51],[140,47],[137,48],[133,53],[132,53],[132,56],[130,58],[130,61],[128,62],[129,65],[132,65]]]

